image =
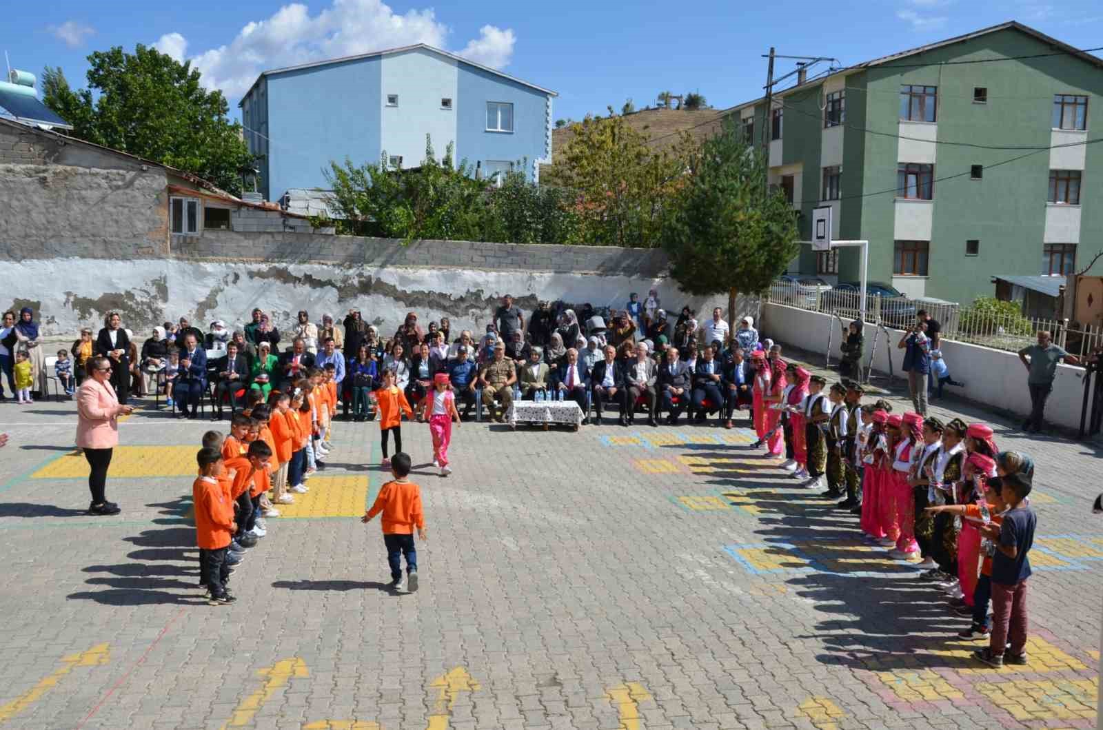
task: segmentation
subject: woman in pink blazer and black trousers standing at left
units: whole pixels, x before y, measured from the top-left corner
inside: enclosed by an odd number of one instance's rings
[[[111,388],[111,361],[96,356],[88,363],[89,377],[81,384],[76,394],[76,445],[84,449],[92,473],[88,489],[92,504],[88,512],[94,515],[117,515],[119,505],[108,502],[105,491],[107,468],[111,464],[111,451],[119,443],[118,417],[133,411],[132,406],[119,405]]]

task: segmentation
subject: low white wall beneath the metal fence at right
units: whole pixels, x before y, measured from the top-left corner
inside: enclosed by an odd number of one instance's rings
[[[763,304],[759,331],[763,336],[823,355],[827,352],[827,339],[832,337],[832,362],[838,363],[839,341],[842,332],[838,320],[827,314],[785,307],[783,304]],[[866,324],[866,353],[863,365],[868,365],[874,343],[876,328]],[[892,358],[892,371],[901,375],[904,351],[897,348],[902,336],[899,330],[889,330],[877,343],[874,369],[880,373],[889,372],[889,358]],[[964,388],[947,386],[951,393],[968,400],[983,404],[985,407],[1010,411],[1017,416],[1030,412],[1030,394],[1027,390],[1027,373],[1019,362],[1018,355],[1003,350],[993,350],[979,345],[943,341],[942,355],[955,380],[965,383]],[[820,361],[823,364],[823,361]],[[1079,367],[1058,365],[1057,379],[1053,382],[1053,393],[1046,405],[1046,420],[1064,428],[1080,428],[1080,408],[1083,402],[1084,371]]]

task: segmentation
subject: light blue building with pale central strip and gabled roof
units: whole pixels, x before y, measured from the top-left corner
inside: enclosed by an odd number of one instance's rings
[[[499,71],[422,44],[266,71],[238,105],[261,189],[328,187],[331,160],[414,168],[431,136],[484,178],[552,161],[552,98]]]

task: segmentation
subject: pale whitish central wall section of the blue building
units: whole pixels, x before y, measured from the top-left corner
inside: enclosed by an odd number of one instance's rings
[[[425,159],[425,136],[432,137],[437,159],[449,142],[456,142],[457,62],[424,50],[384,55],[381,60],[383,105],[382,149],[400,154],[404,168],[416,168]],[[398,95],[398,106],[387,106],[387,95]],[[441,109],[442,98],[452,99],[451,109]],[[463,159],[457,149],[453,159]]]

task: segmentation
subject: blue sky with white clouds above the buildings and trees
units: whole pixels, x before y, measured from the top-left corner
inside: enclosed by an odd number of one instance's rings
[[[754,98],[765,75],[760,55],[771,44],[847,65],[1006,20],[1075,47],[1103,45],[1099,0],[53,0],[8,9],[0,46],[14,67],[39,74],[60,65],[83,86],[89,52],[157,44],[193,60],[233,107],[264,68],[427,42],[555,89],[555,116],[581,118],[629,97],[653,104],[662,89],[698,90],[721,108]]]

